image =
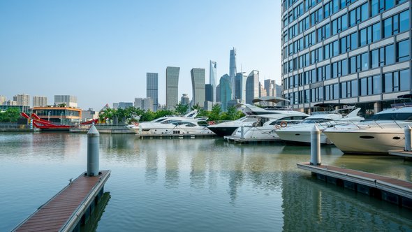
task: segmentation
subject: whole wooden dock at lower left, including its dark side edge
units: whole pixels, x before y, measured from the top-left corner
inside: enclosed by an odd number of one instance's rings
[[[13,231],[80,231],[101,196],[110,171],[88,177],[83,173],[42,205]]]

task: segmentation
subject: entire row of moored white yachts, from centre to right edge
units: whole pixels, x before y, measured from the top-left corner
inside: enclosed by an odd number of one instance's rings
[[[319,107],[326,107],[321,106]],[[137,134],[210,134],[227,140],[284,140],[310,145],[314,125],[321,130],[321,144],[334,144],[344,153],[387,154],[404,148],[404,128],[412,126],[412,106],[404,104],[383,110],[365,120],[360,108],[341,106],[338,110],[307,115],[293,110],[266,110],[242,105],[246,116],[214,124],[196,117],[196,110],[182,117],[161,117],[152,122],[128,125]]]

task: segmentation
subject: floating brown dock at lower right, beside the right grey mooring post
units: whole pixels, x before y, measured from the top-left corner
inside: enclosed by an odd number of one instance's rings
[[[412,209],[412,182],[326,165],[297,164],[318,179]]]

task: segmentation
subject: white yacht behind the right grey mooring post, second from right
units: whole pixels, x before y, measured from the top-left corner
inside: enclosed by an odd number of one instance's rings
[[[358,116],[360,108],[346,107],[331,112],[314,112],[311,116],[304,119],[300,124],[288,126],[286,128],[279,128],[276,130],[277,135],[281,140],[289,143],[311,143],[311,130],[314,125],[318,126],[321,131],[336,124],[344,124],[348,122],[360,122],[363,117]],[[349,112],[349,113],[348,113]],[[348,113],[346,115],[346,113]],[[321,144],[330,145],[332,142],[321,133]]]

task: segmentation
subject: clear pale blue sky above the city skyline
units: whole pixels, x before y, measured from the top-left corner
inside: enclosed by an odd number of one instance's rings
[[[0,1],[0,95],[78,97],[83,109],[146,97],[146,73],[180,67],[179,96],[191,90],[191,68],[217,62],[229,73],[260,72],[281,82],[281,3],[277,0]],[[219,80],[218,80],[219,81]],[[32,99],[31,99],[32,100]],[[30,100],[30,101],[31,101]]]

